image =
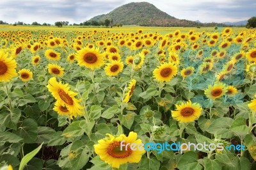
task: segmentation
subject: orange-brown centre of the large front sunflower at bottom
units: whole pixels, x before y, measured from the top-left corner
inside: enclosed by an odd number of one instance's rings
[[[120,142],[115,141],[109,144],[107,153],[114,158],[127,158],[132,154],[132,150],[130,147],[127,147],[127,150],[125,150],[125,147],[123,147],[121,150]]]

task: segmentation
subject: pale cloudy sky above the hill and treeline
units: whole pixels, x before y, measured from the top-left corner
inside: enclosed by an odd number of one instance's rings
[[[137,0],[1,0],[0,20],[40,24],[69,21],[84,22],[95,15],[111,12],[122,4]],[[149,0],[163,12],[177,19],[201,22],[236,22],[256,16],[255,0]]]

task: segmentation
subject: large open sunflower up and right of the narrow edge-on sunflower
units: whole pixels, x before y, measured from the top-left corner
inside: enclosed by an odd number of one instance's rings
[[[178,67],[174,63],[163,63],[158,66],[154,71],[154,77],[159,82],[168,82],[173,76],[177,75]]]

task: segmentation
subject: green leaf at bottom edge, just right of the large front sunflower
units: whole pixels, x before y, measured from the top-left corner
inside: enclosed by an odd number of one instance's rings
[[[148,170],[156,170],[160,167],[160,161],[156,157],[147,158],[145,155],[140,160],[139,167]]]

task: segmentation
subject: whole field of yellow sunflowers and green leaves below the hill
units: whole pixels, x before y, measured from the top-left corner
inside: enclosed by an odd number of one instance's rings
[[[0,32],[0,169],[256,169],[256,30]]]

